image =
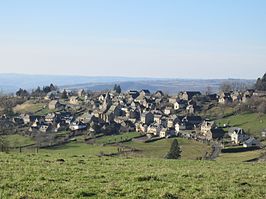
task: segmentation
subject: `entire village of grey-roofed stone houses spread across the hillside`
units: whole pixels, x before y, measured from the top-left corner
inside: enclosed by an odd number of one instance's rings
[[[17,98],[21,98],[21,91]],[[45,136],[48,133],[61,134],[61,143],[64,143],[76,135],[90,139],[97,135],[139,132],[143,135],[142,141],[183,137],[206,143],[218,141],[222,147],[224,144],[260,147],[259,139],[246,133],[246,129],[217,124],[215,118],[211,120],[200,114],[213,106],[247,103],[252,97],[262,98],[265,93],[251,89],[218,94],[184,91],[169,96],[162,91],[151,93],[145,89],[121,92],[119,85],[101,92],[59,91],[53,87],[45,96],[27,96],[27,101],[45,104],[40,110],[13,117],[3,115],[1,120],[9,121],[24,135],[36,139],[41,135],[44,139],[39,141],[40,146],[51,145],[51,141],[47,141],[51,136]],[[262,131],[261,137],[265,136]],[[52,139],[55,137],[58,136]]]

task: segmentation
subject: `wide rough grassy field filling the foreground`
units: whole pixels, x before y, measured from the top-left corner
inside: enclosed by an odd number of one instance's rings
[[[73,149],[74,150],[74,149]],[[74,150],[75,151],[75,150]],[[0,198],[265,198],[265,164],[0,153]]]

